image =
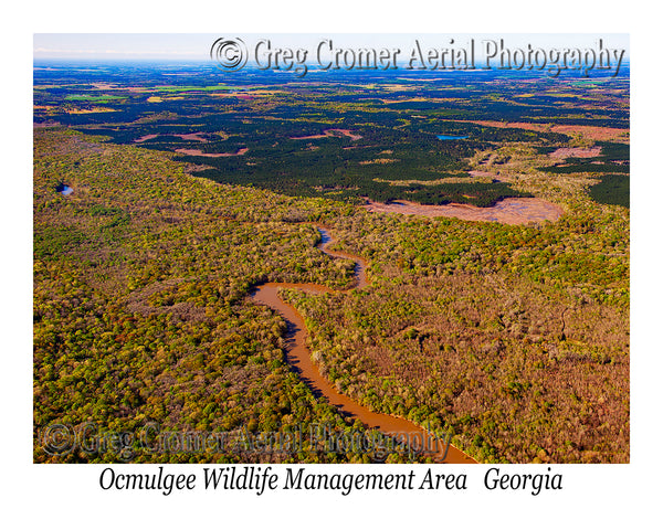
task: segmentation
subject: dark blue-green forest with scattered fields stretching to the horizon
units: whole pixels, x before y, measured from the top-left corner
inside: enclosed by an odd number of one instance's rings
[[[38,70],[35,83],[43,85],[35,87],[35,123],[57,123],[115,144],[176,152],[178,160],[192,166],[192,174],[221,183],[357,204],[369,199],[477,206],[530,195],[511,182],[472,176],[467,159],[505,145],[545,152],[573,138],[473,120],[625,131],[629,127],[623,105],[628,82],[622,80],[602,91],[545,77],[533,85],[496,73],[486,74],[481,83],[462,73],[443,84],[429,83],[425,76],[403,84],[368,73],[341,75],[336,83],[315,76],[283,83],[278,76],[254,71],[230,80],[214,71],[191,75],[186,68],[177,72],[182,74],[178,80],[161,68],[154,65],[151,76],[147,66],[136,65],[98,72]],[[610,146],[614,150],[619,144]],[[624,158],[628,153],[617,161]],[[598,161],[603,165],[598,169],[594,160],[571,160],[539,170],[629,171],[614,159]],[[396,181],[400,183],[394,186]],[[604,187],[592,197],[602,200],[612,189]],[[617,203],[623,200],[618,198]]]

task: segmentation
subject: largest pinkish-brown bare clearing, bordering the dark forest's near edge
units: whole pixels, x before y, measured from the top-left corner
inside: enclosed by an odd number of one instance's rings
[[[498,222],[505,224],[527,224],[530,222],[557,221],[564,210],[557,204],[536,198],[509,198],[492,208],[478,208],[470,204],[427,205],[409,201],[389,204],[368,201],[369,212],[400,213],[427,218],[456,218],[465,221]]]

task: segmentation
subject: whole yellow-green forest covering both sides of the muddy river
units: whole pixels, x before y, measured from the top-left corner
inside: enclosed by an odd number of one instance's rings
[[[484,462],[628,460],[623,209],[581,198],[544,226],[369,214],[215,184],[169,155],[56,128],[35,130],[34,160],[35,433],[52,422],[238,437],[361,428],[296,378],[283,318],[246,298],[265,280],[350,285],[351,266],[315,248],[316,222],[370,263],[361,292],[287,292],[341,391],[451,431]],[[56,191],[63,183],[71,195]],[[136,462],[257,458],[236,446],[154,455],[135,441],[127,451]],[[123,457],[49,455],[39,437],[34,455]],[[269,458],[371,457],[305,443]]]

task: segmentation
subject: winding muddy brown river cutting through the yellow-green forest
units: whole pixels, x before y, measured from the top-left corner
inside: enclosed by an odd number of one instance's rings
[[[332,257],[343,257],[355,262],[355,289],[360,289],[368,285],[366,278],[367,263],[359,256],[334,252],[327,250],[333,240],[327,230],[316,226],[320,232],[323,242],[318,245],[322,252]],[[347,395],[338,392],[335,385],[330,384],[319,372],[313,359],[311,350],[306,346],[306,327],[302,315],[290,304],[286,304],[278,297],[278,289],[294,288],[307,293],[334,293],[329,287],[318,284],[288,284],[288,283],[267,283],[255,287],[251,297],[257,304],[271,307],[277,311],[287,322],[286,336],[286,359],[297,375],[313,390],[316,395],[324,395],[330,404],[336,406],[344,415],[359,418],[364,424],[371,428],[378,428],[387,435],[393,436],[397,441],[410,441],[412,446],[423,446],[429,448],[431,456],[435,462],[448,464],[475,464],[476,462],[462,451],[448,444],[446,439],[435,441],[422,427],[402,417],[391,416],[370,411],[360,405]]]

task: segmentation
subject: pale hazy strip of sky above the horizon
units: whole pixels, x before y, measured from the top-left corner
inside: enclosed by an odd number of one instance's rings
[[[221,36],[239,36],[251,47],[261,39],[270,39],[273,46],[315,49],[323,39],[333,39],[338,47],[401,47],[409,50],[414,39],[428,47],[449,47],[450,39],[462,46],[474,38],[482,40],[504,39],[505,46],[518,47],[532,43],[533,46],[552,47],[596,47],[599,39],[604,47],[624,49],[629,56],[628,34],[204,34],[204,33],[35,33],[34,59],[87,59],[87,60],[209,60],[212,43]]]

